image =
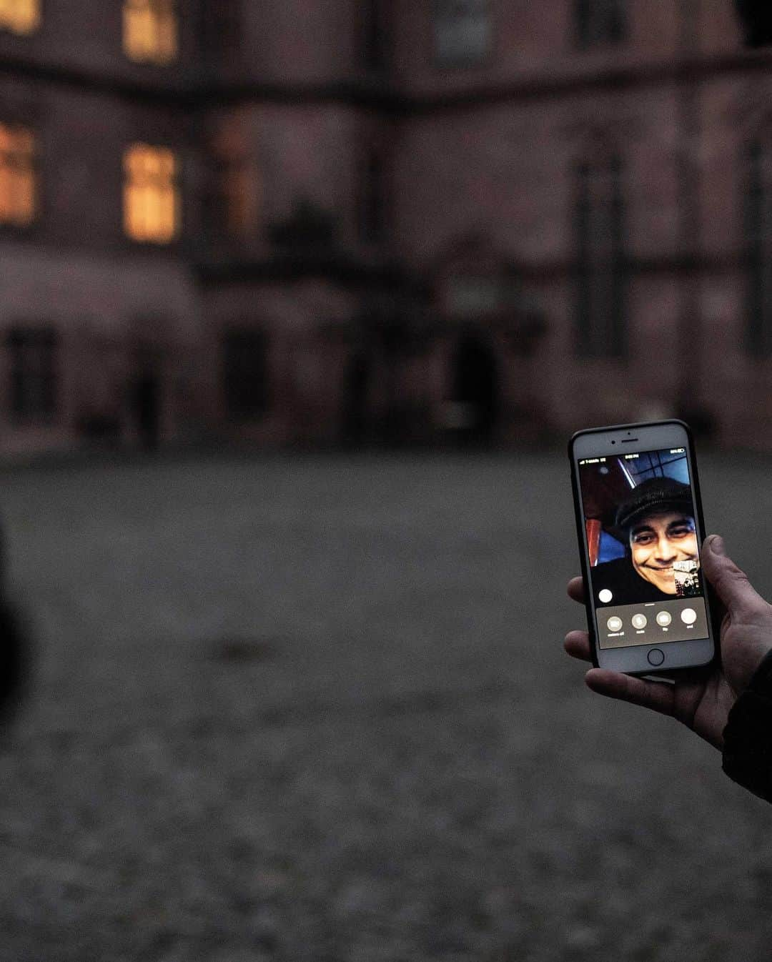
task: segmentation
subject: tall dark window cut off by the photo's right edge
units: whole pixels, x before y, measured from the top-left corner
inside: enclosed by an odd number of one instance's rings
[[[772,354],[772,190],[770,155],[759,142],[746,152],[745,243],[748,289],[745,343],[752,354]]]

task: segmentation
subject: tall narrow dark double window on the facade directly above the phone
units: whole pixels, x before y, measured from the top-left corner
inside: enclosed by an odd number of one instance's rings
[[[619,160],[577,168],[577,316],[579,354],[627,351],[622,169]]]

